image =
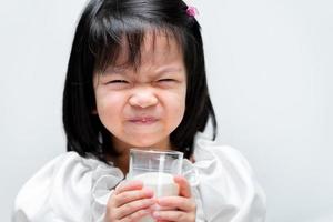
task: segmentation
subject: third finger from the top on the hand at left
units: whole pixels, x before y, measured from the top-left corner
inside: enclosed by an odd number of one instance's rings
[[[143,211],[143,210],[151,212],[150,206],[155,203],[157,203],[157,201],[154,199],[143,199],[143,200],[129,202],[129,203],[118,208],[118,210],[117,210],[118,216],[117,218],[119,218],[119,219],[132,218],[132,214],[134,214],[135,212],[139,212],[139,211]]]

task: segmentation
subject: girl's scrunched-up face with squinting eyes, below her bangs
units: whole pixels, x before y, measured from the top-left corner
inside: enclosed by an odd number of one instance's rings
[[[115,63],[125,59],[122,53]],[[137,70],[109,67],[94,73],[93,85],[97,113],[117,150],[171,149],[170,133],[184,115],[186,95],[183,56],[174,39],[147,34]]]

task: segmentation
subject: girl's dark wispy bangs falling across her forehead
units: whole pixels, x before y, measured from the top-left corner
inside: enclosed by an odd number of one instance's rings
[[[179,27],[159,26],[138,18],[113,17],[94,21],[88,37],[89,51],[94,58],[94,72],[103,73],[110,65],[137,70],[141,65],[144,41],[149,38],[154,50],[155,39],[161,36],[167,38],[168,46],[173,40],[183,51],[184,32]],[[122,58],[121,61],[119,58]]]

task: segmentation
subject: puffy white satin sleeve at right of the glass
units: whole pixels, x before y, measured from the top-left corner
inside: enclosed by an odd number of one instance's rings
[[[194,144],[198,181],[192,190],[201,206],[196,221],[265,221],[265,194],[242,154],[202,134],[195,137]]]

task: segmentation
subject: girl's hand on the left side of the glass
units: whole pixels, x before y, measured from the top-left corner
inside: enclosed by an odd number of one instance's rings
[[[155,203],[153,191],[142,188],[141,181],[120,183],[108,201],[104,221],[131,222],[150,214],[150,206]]]

